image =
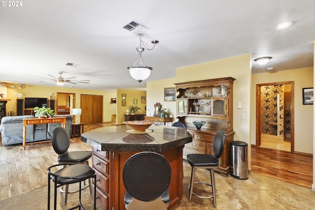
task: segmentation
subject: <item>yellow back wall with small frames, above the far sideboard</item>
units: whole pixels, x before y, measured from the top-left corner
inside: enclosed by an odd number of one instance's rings
[[[122,106],[122,94],[126,94],[126,106]],[[130,111],[130,106],[137,105],[141,109],[141,114],[146,114],[146,103],[141,103],[141,96],[146,96],[147,91],[117,89],[117,115],[116,124],[123,124],[127,109]],[[137,104],[133,104],[133,99],[137,99]]]

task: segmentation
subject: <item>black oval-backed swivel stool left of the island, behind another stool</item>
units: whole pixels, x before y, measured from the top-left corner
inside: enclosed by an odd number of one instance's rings
[[[68,132],[63,127],[56,127],[53,130],[51,143],[55,152],[58,154],[58,164],[87,164],[89,165],[89,159],[92,157],[92,151],[68,151],[70,146],[70,137]],[[88,180],[89,185],[83,187],[83,189],[89,187],[90,194],[92,193],[91,180]],[[64,193],[63,203],[67,203],[68,193],[73,193],[77,191],[68,192],[68,184],[65,184],[65,189],[61,188],[61,192]]]

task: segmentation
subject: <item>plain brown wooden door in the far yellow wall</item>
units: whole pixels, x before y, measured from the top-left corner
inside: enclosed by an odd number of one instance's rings
[[[81,123],[94,124],[103,122],[103,96],[81,94]]]

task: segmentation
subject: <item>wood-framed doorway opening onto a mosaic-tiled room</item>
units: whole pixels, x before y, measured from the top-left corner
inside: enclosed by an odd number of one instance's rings
[[[256,145],[294,152],[294,82],[256,85]]]

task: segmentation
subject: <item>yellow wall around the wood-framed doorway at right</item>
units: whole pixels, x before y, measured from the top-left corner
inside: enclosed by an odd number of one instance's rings
[[[252,75],[252,144],[256,144],[256,84],[294,81],[294,150],[313,154],[313,105],[302,104],[302,88],[313,87],[313,71],[310,67]]]

